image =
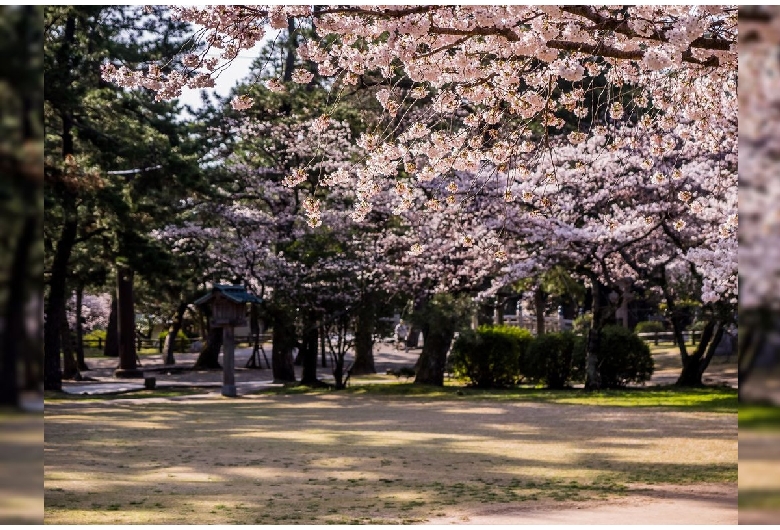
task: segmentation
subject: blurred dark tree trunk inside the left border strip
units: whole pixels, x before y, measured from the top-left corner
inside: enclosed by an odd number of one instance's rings
[[[25,330],[26,286],[30,248],[35,242],[38,220],[29,216],[22,225],[16,242],[8,282],[8,300],[5,311],[2,353],[0,353],[0,405],[19,405],[19,347],[23,344]],[[29,357],[29,355],[25,356]]]

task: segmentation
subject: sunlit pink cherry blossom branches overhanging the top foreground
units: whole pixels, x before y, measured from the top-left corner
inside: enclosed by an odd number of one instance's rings
[[[173,97],[184,86],[208,86],[264,37],[266,25],[312,24],[320,39],[303,42],[298,53],[320,75],[335,77],[334,105],[351,86],[382,85],[385,119],[362,139],[367,155],[357,178],[367,187],[395,179],[402,166],[425,181],[483,163],[512,165],[529,143],[561,132],[565,113],[577,117],[572,134],[582,138],[598,114],[621,119],[649,105],[647,120],[667,131],[688,123],[696,140],[736,109],[737,13],[730,6],[218,6],[177,14],[204,28],[206,46],[182,60],[184,70],[108,64],[104,76]],[[221,52],[207,58],[208,50]],[[608,89],[593,82],[597,76]],[[311,73],[292,77],[308,82]],[[284,81],[266,85],[284,90]],[[239,109],[251,105],[247,96],[234,100]],[[399,126],[420,105],[424,115]],[[428,140],[434,130],[441,142]],[[487,144],[480,141],[486,134]],[[413,149],[424,163],[412,160]],[[369,194],[355,211],[372,206]]]

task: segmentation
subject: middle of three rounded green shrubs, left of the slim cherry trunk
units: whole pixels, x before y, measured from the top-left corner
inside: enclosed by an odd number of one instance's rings
[[[520,372],[549,388],[565,388],[582,379],[585,371],[585,339],[571,332],[545,333],[531,341]]]

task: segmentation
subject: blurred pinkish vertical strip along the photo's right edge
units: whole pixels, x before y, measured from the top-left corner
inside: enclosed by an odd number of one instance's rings
[[[739,522],[780,521],[780,7],[739,8]]]

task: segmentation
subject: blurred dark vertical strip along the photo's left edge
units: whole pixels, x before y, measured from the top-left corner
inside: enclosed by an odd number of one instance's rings
[[[0,524],[43,523],[43,33],[0,6]]]

